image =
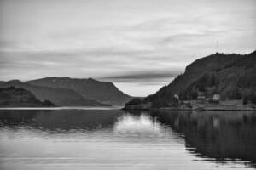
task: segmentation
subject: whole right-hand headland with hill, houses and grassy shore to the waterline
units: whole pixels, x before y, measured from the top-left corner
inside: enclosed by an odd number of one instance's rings
[[[169,85],[145,99],[132,99],[130,109],[253,111],[256,109],[256,51],[212,54],[188,65]]]

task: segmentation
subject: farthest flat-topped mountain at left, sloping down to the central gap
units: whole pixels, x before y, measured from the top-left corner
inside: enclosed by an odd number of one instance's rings
[[[45,77],[28,81],[26,84],[48,88],[71,89],[81,94],[85,99],[95,99],[111,105],[124,105],[125,102],[132,99],[131,96],[124,94],[116,88],[112,82],[100,82],[92,78]]]

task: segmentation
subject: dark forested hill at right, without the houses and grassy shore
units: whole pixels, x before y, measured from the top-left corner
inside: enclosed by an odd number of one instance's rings
[[[180,99],[197,99],[198,94],[221,99],[244,99],[256,103],[256,51],[251,54],[212,54],[188,65],[182,75],[168,86],[160,88],[143,100],[133,100],[127,105],[153,107],[177,105]]]

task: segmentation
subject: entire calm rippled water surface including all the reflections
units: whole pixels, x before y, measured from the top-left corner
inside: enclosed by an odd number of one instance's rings
[[[0,169],[256,167],[256,113],[0,111]]]

